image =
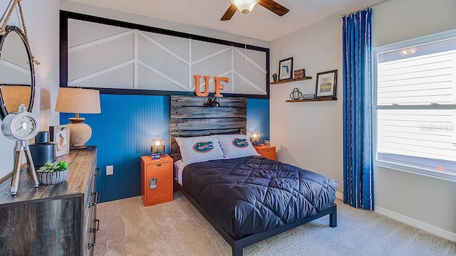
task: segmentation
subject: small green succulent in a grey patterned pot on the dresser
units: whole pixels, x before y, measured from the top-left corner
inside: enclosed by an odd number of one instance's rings
[[[61,183],[68,177],[68,163],[66,161],[46,162],[36,171],[36,176],[42,185]]]

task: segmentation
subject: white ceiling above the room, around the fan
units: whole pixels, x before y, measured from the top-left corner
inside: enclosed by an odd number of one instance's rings
[[[231,4],[229,0],[70,1],[241,36],[247,29],[248,37],[271,41],[365,0],[276,0],[290,10],[288,14],[280,17],[257,5],[247,15],[237,11],[230,21],[220,21]]]

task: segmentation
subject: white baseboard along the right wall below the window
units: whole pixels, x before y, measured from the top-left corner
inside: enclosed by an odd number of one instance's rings
[[[338,195],[336,195],[336,196],[338,197]],[[448,230],[444,230],[442,228],[437,228],[433,225],[423,223],[420,220],[415,220],[414,218],[410,218],[410,217],[402,215],[400,213],[395,213],[392,210],[388,210],[388,209],[382,208],[380,206],[375,206],[375,213],[385,215],[386,217],[392,218],[394,220],[399,220],[402,223],[412,225],[415,228],[420,228],[420,229],[425,230],[434,235],[438,235],[438,236],[445,238],[447,240],[450,240],[452,242],[456,242],[456,233],[452,233]]]

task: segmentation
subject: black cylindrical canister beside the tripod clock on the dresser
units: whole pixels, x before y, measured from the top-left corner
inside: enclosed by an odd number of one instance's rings
[[[49,132],[38,132],[35,136],[35,143],[28,146],[30,148],[33,165],[41,167],[46,162],[56,161],[56,144],[49,142]]]

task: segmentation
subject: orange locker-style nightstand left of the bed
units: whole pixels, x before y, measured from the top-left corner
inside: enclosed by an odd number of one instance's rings
[[[144,206],[172,201],[171,156],[141,156],[141,198]]]

